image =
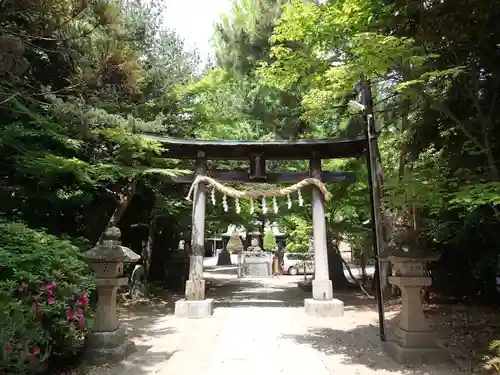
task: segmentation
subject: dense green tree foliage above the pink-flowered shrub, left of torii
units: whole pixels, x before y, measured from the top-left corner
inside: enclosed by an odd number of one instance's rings
[[[94,243],[133,180],[175,169],[136,133],[183,134],[174,89],[196,56],[162,26],[162,2],[61,4],[0,6],[8,25],[0,49],[17,46],[29,68],[0,85],[2,213]]]

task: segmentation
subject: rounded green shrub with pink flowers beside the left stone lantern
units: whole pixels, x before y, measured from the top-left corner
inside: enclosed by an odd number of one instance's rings
[[[52,355],[76,353],[93,288],[69,241],[0,221],[0,373],[32,371]]]

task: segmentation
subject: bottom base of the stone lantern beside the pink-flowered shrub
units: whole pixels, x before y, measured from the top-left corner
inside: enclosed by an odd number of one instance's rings
[[[92,332],[85,343],[85,359],[95,365],[120,362],[135,351],[124,327],[111,332]]]

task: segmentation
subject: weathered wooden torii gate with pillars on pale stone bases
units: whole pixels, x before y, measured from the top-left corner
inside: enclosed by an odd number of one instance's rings
[[[179,183],[193,183],[200,179],[203,181],[200,176],[207,175],[207,160],[248,160],[250,162],[250,168],[247,171],[211,170],[210,180],[215,180],[218,183],[284,184],[298,183],[306,179],[321,182],[352,183],[355,181],[353,173],[323,171],[321,161],[323,159],[356,158],[361,156],[367,156],[369,164],[371,160],[367,136],[265,142],[188,140],[157,136],[149,136],[149,138],[162,143],[166,149],[165,157],[196,161],[194,173],[177,178],[176,182]],[[267,172],[267,160],[309,160],[309,171]],[[312,315],[341,316],[343,314],[343,303],[333,298],[333,286],[329,279],[324,197],[319,188],[320,185],[315,185],[312,197],[315,278],[312,282],[312,298],[305,300],[305,309],[307,313]],[[205,204],[207,196],[206,187],[202,183],[196,183],[193,187],[190,272],[189,279],[186,281],[185,299],[176,302],[175,314],[183,317],[204,317],[213,313],[213,300],[205,298],[205,281],[203,280]],[[373,206],[373,199],[371,202]],[[374,223],[373,220],[372,222]]]

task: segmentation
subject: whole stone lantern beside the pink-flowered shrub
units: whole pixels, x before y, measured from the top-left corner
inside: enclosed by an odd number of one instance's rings
[[[92,332],[86,343],[86,357],[92,363],[117,362],[135,351],[132,341],[118,321],[116,311],[117,290],[127,285],[123,277],[123,264],[135,263],[140,256],[121,246],[120,230],[106,230],[100,243],[83,254],[85,261],[94,270],[97,286],[97,310]]]

